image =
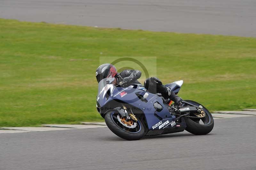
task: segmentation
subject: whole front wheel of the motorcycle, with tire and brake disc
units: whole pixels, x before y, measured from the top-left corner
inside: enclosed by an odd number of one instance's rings
[[[109,111],[104,116],[108,128],[117,136],[125,140],[139,140],[146,134],[145,127],[141,120],[126,122],[116,111]],[[136,125],[136,126],[135,126]]]

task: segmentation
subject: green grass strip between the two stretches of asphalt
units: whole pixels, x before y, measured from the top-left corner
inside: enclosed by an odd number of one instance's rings
[[[100,56],[156,56],[154,76],[183,79],[183,99],[211,111],[256,108],[255,38],[0,19],[0,127],[103,121]]]

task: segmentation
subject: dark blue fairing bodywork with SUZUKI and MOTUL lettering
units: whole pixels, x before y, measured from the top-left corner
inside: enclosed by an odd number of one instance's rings
[[[178,93],[180,86],[174,83],[174,85],[172,84],[171,88],[174,88]],[[146,101],[143,101],[138,96],[143,96],[145,93],[148,92],[134,89],[133,86],[121,88],[115,87],[112,84],[108,84],[106,85],[105,89],[102,90],[102,92],[97,96],[97,107],[104,108],[104,106],[111,101],[116,101],[117,104],[120,104],[120,102],[122,102],[131,105],[131,107],[134,106],[131,108],[133,113],[136,113],[136,110],[139,109],[140,113],[142,111],[145,114],[149,129],[147,135],[165,134],[168,133],[168,131],[171,131],[170,133],[180,132],[186,128],[185,121],[181,121],[181,123],[176,123],[176,125],[172,127],[171,122],[175,121],[176,118],[169,112],[168,108],[164,105],[163,99],[156,94],[148,93]],[[153,104],[155,102],[158,102],[163,106],[163,109],[160,112],[157,112],[154,108]],[[113,107],[118,107],[118,105]],[[100,111],[100,113],[104,112],[105,111]],[[168,124],[164,124],[162,128],[159,128],[159,126],[157,126],[153,129],[154,125],[160,125],[167,121]],[[177,125],[179,125],[179,127],[177,127]],[[154,131],[154,133],[152,133],[152,131]]]

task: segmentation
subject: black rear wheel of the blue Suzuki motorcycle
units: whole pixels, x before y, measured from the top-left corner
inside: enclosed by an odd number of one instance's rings
[[[185,100],[185,101],[191,104],[195,104],[197,106],[202,105],[192,100]],[[204,106],[202,110],[205,113],[205,117],[201,119],[184,117],[185,122],[187,124],[187,128],[185,130],[187,130],[188,132],[194,135],[206,135],[212,131],[212,128],[214,126],[212,114]],[[190,116],[195,116],[195,115],[190,115]]]

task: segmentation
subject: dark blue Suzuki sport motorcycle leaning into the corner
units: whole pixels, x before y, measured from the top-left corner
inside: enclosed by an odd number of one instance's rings
[[[194,135],[205,135],[212,131],[212,114],[192,100],[183,100],[179,106],[138,88],[137,84],[120,87],[112,84],[115,78],[99,82],[96,108],[105,119],[108,128],[126,140],[139,140],[145,135],[162,135],[184,130]],[[178,94],[183,81],[166,84]]]

